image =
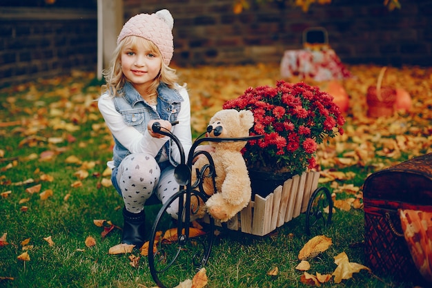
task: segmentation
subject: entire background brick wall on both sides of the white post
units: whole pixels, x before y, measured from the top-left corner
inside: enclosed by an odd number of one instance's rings
[[[432,1],[400,2],[393,12],[382,0],[332,0],[307,13],[273,3],[235,15],[233,0],[124,0],[124,19],[168,8],[181,66],[278,63],[314,26],[345,63],[432,66]],[[0,8],[0,87],[96,66],[96,10]]]

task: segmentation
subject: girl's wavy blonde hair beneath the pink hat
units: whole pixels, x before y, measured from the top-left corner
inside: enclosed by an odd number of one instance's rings
[[[150,40],[144,39],[142,37],[137,36],[128,36],[122,39],[115,48],[113,57],[110,62],[110,66],[108,69],[103,70],[102,74],[104,75],[106,84],[102,86],[102,93],[109,93],[112,97],[121,96],[119,94],[119,90],[124,86],[127,79],[124,76],[121,70],[121,50],[126,45],[131,45],[132,47],[144,46],[151,53],[161,57],[161,52],[159,48]],[[161,61],[161,70],[157,77],[153,80],[153,83],[150,85],[149,93],[156,94],[157,87],[160,82],[165,83],[169,88],[177,88],[177,81],[179,77],[176,74],[176,70],[170,68],[168,65]]]

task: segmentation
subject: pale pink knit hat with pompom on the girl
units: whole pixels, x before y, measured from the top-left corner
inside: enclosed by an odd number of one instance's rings
[[[117,45],[128,36],[138,36],[152,41],[161,52],[162,59],[166,65],[173,58],[173,26],[174,19],[166,10],[159,10],[153,14],[139,14],[130,18],[117,37]]]

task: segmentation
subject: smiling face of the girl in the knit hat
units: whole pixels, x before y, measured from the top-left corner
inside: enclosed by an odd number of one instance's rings
[[[121,48],[121,71],[142,95],[159,75],[162,57],[152,43],[140,37],[131,37]]]

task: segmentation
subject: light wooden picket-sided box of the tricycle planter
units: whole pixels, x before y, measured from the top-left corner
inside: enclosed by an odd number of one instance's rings
[[[296,218],[307,209],[311,194],[318,187],[320,173],[308,171],[295,175],[263,198],[255,195],[255,201],[227,222],[231,230],[264,236],[284,223]],[[217,226],[221,223],[215,220]]]

